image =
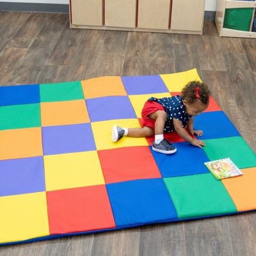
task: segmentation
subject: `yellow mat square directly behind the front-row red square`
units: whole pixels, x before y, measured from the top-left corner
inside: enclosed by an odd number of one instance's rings
[[[44,156],[47,191],[105,184],[97,151]]]

